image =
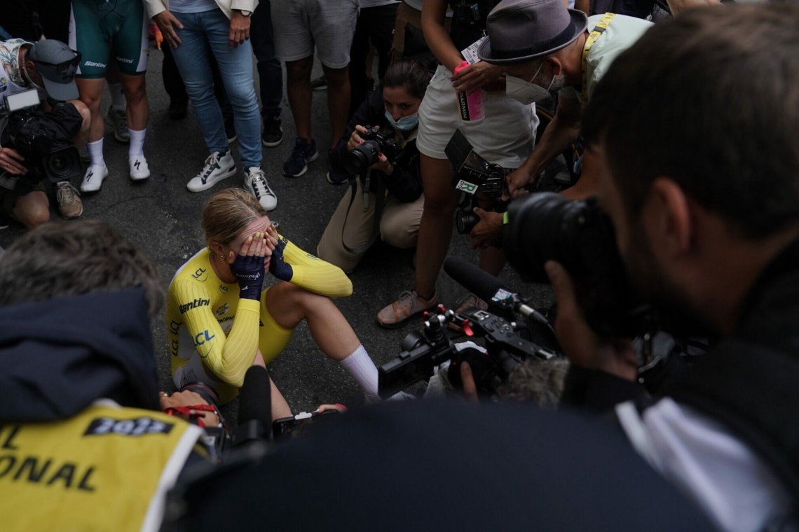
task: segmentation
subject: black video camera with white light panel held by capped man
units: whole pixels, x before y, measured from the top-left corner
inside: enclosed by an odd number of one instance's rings
[[[78,148],[37,110],[39,97],[36,89],[6,96],[4,100],[10,114],[2,132],[3,144],[10,144],[10,148],[19,152],[28,169],[25,175],[15,178],[29,184],[42,179],[58,183],[82,174]]]

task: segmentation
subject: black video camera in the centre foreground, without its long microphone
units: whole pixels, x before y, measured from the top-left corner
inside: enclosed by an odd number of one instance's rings
[[[483,337],[487,355],[478,349],[456,349],[444,333],[449,323],[460,325],[467,336]],[[514,323],[487,310],[471,308],[455,314],[439,305],[427,317],[422,333],[413,332],[401,343],[400,356],[378,368],[378,391],[388,398],[419,380],[429,378],[436,366],[451,361],[447,378],[460,388],[460,363],[467,361],[477,389],[497,392],[513,369],[529,357],[550,360],[555,353],[515,334]]]

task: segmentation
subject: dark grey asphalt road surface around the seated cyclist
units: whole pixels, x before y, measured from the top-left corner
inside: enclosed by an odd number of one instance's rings
[[[187,181],[200,171],[208,152],[192,112],[185,120],[169,119],[169,97],[161,82],[162,57],[161,52],[153,47],[147,73],[150,118],[145,156],[152,175],[142,183],[131,183],[127,144],[114,140],[113,132],[106,128],[105,162],[109,167],[109,177],[99,193],[83,196],[84,214],[81,219],[101,219],[137,242],[156,262],[166,285],[177,268],[204,246],[200,217],[205,202],[224,187],[244,187],[244,175],[239,167],[238,175],[225,179],[209,191],[195,194],[186,190]],[[316,61],[314,77],[320,73]],[[257,93],[257,76],[255,83]],[[281,231],[292,242],[309,253],[316,252],[324,227],[346,190],[346,187],[333,186],[325,179],[330,142],[326,95],[326,91],[313,93],[313,135],[320,157],[309,165],[305,175],[293,179],[282,175],[282,165],[291,153],[295,138],[285,97],[284,141],[276,148],[263,148],[264,171],[278,199],[277,208],[270,213],[270,218],[280,223]],[[106,92],[103,112],[108,105]],[[236,144],[233,144],[233,152],[238,163]],[[75,179],[74,185],[79,184]],[[54,198],[50,201],[52,216],[58,219]],[[7,247],[22,233],[22,227],[17,225],[0,231],[0,246]],[[468,239],[457,233],[453,235],[450,254],[475,263],[478,258],[469,250]],[[376,313],[384,305],[394,301],[403,290],[413,288],[412,255],[413,250],[397,250],[376,242],[350,276],[354,286],[352,297],[335,300],[378,366],[396,357],[403,337],[419,329],[420,320],[396,330],[382,329],[375,322]],[[551,300],[551,290],[524,285],[510,266],[503,270],[501,277],[511,288],[530,296],[536,305]],[[455,300],[466,292],[443,273],[436,288],[439,302],[447,307],[454,305]],[[161,387],[172,391],[163,314],[153,322],[153,345]],[[356,381],[344,368],[324,357],[304,324],[297,327],[291,343],[269,365],[269,370],[293,412],[312,410],[323,403],[359,404],[363,401],[363,393]],[[234,402],[223,409],[229,420],[235,419],[236,408]]]

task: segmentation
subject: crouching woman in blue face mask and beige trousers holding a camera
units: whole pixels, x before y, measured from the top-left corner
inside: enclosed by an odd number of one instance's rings
[[[416,113],[429,82],[421,63],[392,63],[380,90],[360,105],[330,153],[333,171],[356,177],[328,222],[316,254],[344,273],[355,270],[378,234],[395,247],[416,245],[424,206]],[[374,127],[368,131],[364,124]]]

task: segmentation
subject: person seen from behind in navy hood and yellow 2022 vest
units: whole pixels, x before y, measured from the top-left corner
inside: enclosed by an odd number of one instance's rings
[[[141,249],[94,220],[47,223],[0,256],[3,530],[160,526],[166,491],[204,459],[201,428],[161,412],[204,401],[159,404],[164,295]]]

